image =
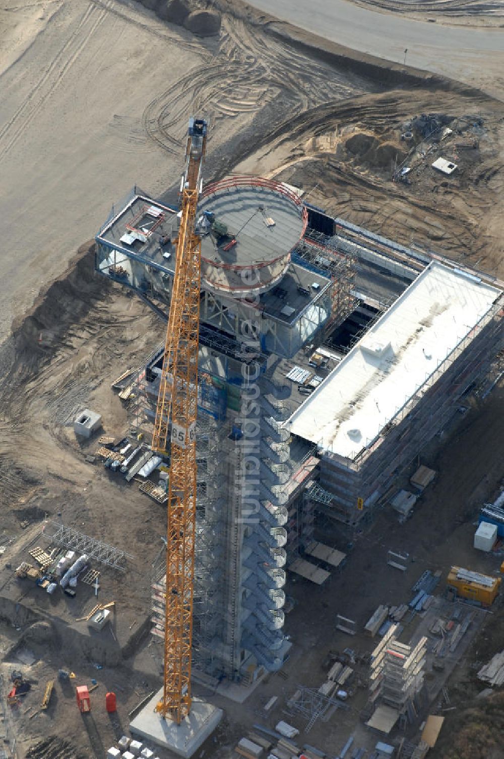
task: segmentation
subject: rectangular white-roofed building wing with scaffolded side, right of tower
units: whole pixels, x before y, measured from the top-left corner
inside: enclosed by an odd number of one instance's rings
[[[318,447],[315,501],[356,524],[443,430],[499,344],[502,291],[430,263],[290,417],[290,433]]]

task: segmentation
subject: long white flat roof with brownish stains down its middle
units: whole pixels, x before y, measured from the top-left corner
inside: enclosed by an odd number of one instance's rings
[[[286,424],[323,449],[355,458],[501,294],[475,276],[432,262]],[[427,386],[426,386],[427,389]]]

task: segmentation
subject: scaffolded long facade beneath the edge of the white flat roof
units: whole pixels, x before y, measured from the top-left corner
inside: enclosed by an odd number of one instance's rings
[[[358,499],[373,505],[400,471],[452,418],[460,398],[490,373],[502,350],[502,296],[460,340],[373,440],[363,441],[355,458],[321,451],[320,491],[313,496],[334,510],[335,518],[359,521]],[[324,493],[322,493],[324,491]]]

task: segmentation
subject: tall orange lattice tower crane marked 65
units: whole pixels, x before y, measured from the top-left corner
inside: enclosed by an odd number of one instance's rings
[[[194,544],[196,533],[196,412],[198,393],[201,238],[196,206],[202,185],[207,124],[190,118],[186,168],[180,185],[177,261],[152,450],[170,448],[167,501],[164,688],[156,706],[180,725],[191,707]],[[170,424],[171,422],[171,424]],[[170,434],[170,446],[168,446]]]

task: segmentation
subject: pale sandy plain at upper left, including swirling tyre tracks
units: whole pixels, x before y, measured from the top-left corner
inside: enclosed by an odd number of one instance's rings
[[[134,2],[5,0],[0,23],[0,340],[114,201],[177,182],[190,112],[211,121],[218,170],[219,146],[268,106],[372,88],[232,18],[201,40]]]

